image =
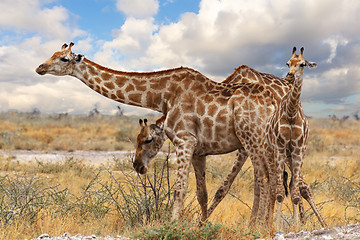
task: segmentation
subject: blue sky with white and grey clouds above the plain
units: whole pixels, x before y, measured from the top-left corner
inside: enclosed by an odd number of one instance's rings
[[[117,70],[186,66],[222,81],[246,64],[285,77],[293,46],[306,69],[307,116],[360,111],[360,1],[0,0],[0,112],[114,114],[150,110],[107,99],[78,79],[35,68],[64,43]]]

